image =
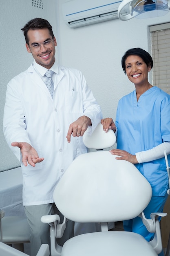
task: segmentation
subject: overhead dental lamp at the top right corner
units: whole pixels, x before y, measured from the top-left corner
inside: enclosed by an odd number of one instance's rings
[[[120,20],[163,16],[170,10],[170,0],[123,0],[118,7]]]

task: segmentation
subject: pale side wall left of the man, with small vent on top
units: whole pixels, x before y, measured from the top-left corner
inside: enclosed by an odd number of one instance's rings
[[[49,20],[56,34],[56,9],[55,0],[43,0],[43,9],[33,7],[31,0],[0,0],[0,171],[20,165],[4,139],[2,121],[7,83],[33,60],[26,52],[21,28],[32,18],[40,17]]]

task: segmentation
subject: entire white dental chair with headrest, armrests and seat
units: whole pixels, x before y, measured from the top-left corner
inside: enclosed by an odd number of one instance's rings
[[[60,223],[58,215],[41,218],[51,225],[51,256],[157,256],[162,243],[156,216],[166,213],[152,213],[151,219],[145,218],[143,210],[152,196],[150,184],[133,164],[99,150],[115,143],[112,130],[105,133],[99,124],[91,136],[86,131],[83,139],[87,147],[98,150],[77,157],[55,188],[54,202],[65,216],[64,222]],[[136,216],[142,218],[148,231],[155,233],[151,242],[132,232],[108,231],[108,222]],[[61,247],[57,238],[62,237],[67,219],[99,222],[101,231],[75,236]]]

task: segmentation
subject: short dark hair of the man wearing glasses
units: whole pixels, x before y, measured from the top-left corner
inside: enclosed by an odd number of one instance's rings
[[[27,22],[26,25],[21,29],[24,32],[26,43],[29,45],[29,39],[27,36],[29,29],[36,30],[36,29],[44,29],[44,28],[49,29],[50,35],[52,36],[52,38],[54,38],[52,26],[50,25],[48,20],[44,20],[42,18],[35,18]]]

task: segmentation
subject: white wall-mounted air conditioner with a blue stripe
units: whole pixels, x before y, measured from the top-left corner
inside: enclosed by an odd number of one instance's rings
[[[122,0],[71,0],[62,4],[63,17],[69,27],[81,27],[118,18]]]

